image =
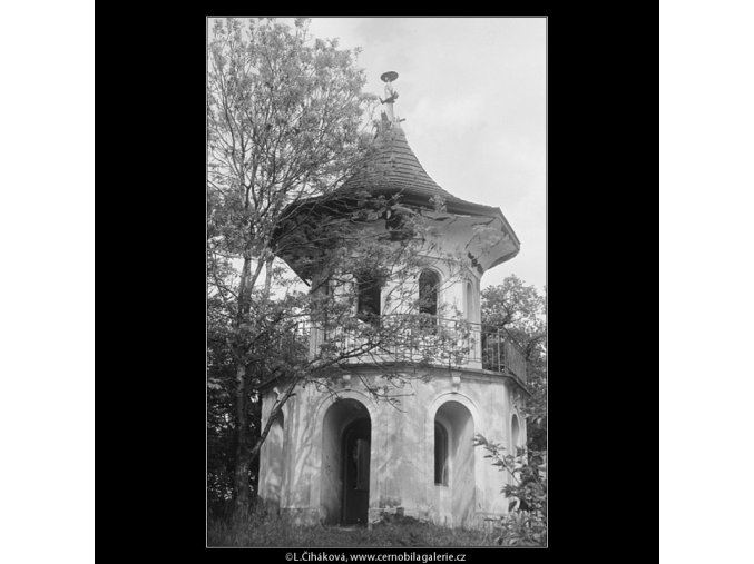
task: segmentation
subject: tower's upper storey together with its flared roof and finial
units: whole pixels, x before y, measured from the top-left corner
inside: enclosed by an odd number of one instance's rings
[[[459,198],[440,187],[424,170],[403,131],[401,122],[404,120],[394,113],[398,92],[392,88],[392,81],[396,78],[396,72],[383,75],[383,80],[390,79],[385,80],[385,99],[381,99],[385,110],[375,123],[376,132],[368,158],[334,192],[297,202],[284,212],[288,222],[281,228],[281,232],[285,232],[288,239],[296,239],[296,235],[291,234],[297,234],[297,239],[293,244],[288,240],[285,250],[278,255],[301,278],[313,281],[313,290],[329,296],[332,291],[333,298],[345,297],[336,288],[331,288],[332,274],[316,259],[326,254],[324,249],[339,245],[337,236],[323,234],[322,226],[331,218],[349,222],[353,215],[358,215],[354,210],[358,212],[365,201],[374,202],[384,198],[398,202],[400,207],[411,210],[410,214],[421,216],[421,234],[414,232],[410,237],[419,243],[412,253],[425,257],[425,266],[402,279],[361,268],[343,273],[346,280],[349,276],[352,277],[351,281],[343,283],[343,276],[335,276],[335,279],[341,280],[341,288],[347,288],[345,291],[352,299],[351,316],[361,320],[371,319],[369,323],[376,324],[381,323],[379,319],[395,319],[391,317],[395,315],[425,315],[435,319],[427,326],[431,330],[445,321],[445,327],[452,330],[456,330],[458,321],[474,324],[470,336],[467,329],[466,336],[459,337],[459,343],[464,342],[459,348],[468,353],[467,365],[487,367],[484,363],[494,357],[500,367],[503,364],[501,358],[516,356],[518,368],[511,372],[525,378],[522,357],[515,352],[508,355],[503,349],[505,337],[499,333],[488,334],[481,327],[480,304],[482,275],[515,257],[520,250],[520,241],[499,207]],[[402,240],[402,234],[396,232],[400,227],[393,225],[395,215],[375,212],[380,207],[371,208],[372,212],[366,214],[368,220],[353,222],[358,232],[349,237],[384,241],[386,246],[391,246],[391,241]],[[347,219],[344,221],[344,218]],[[307,237],[307,234],[315,235]],[[393,238],[393,235],[398,237]],[[371,269],[379,270],[385,266],[376,254],[372,256],[361,250],[356,254],[365,257]],[[363,266],[364,263],[360,263],[360,267]],[[400,299],[394,299],[396,296]],[[340,329],[332,330],[337,333]],[[312,337],[313,350],[329,338],[324,329],[315,333]],[[505,364],[507,367],[511,365],[509,360]]]

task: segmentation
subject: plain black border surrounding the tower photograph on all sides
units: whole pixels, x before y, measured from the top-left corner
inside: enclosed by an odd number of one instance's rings
[[[284,562],[205,548],[206,16],[255,7],[187,6],[97,13],[97,553]],[[549,548],[459,551],[656,554],[656,12],[447,14],[548,16]]]

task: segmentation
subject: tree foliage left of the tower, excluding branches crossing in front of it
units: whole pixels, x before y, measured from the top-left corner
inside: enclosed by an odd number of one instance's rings
[[[266,432],[258,387],[302,348],[294,317],[305,294],[275,264],[275,234],[284,210],[332,189],[363,157],[372,98],[355,53],[307,26],[227,18],[209,42],[208,492],[210,502],[231,493],[239,515]]]

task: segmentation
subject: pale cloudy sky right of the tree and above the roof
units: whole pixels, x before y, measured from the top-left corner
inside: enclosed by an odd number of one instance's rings
[[[293,24],[292,19],[281,22]],[[310,31],[363,50],[365,90],[384,98],[429,176],[450,194],[496,206],[521,241],[482,288],[516,274],[546,284],[546,19],[312,18]]]

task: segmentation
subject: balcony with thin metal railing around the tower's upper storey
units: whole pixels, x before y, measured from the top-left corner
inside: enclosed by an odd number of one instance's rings
[[[412,363],[483,369],[527,382],[523,352],[498,327],[428,315],[353,319],[324,330],[307,324],[311,355],[341,354],[344,363]]]

